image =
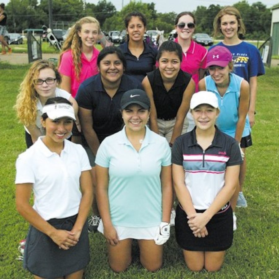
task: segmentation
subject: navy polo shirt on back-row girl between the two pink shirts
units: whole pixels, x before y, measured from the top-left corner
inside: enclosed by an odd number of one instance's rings
[[[139,59],[129,50],[128,42],[120,45],[119,49],[123,52],[127,61],[127,66],[125,68],[125,73],[127,75],[133,76],[142,82],[146,74],[153,71],[156,64],[157,49],[150,47],[144,42],[144,51],[139,55]]]

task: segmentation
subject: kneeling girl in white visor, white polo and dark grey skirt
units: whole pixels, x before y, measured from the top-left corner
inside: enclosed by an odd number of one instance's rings
[[[70,102],[51,98],[42,113],[46,135],[16,161],[16,208],[30,223],[23,264],[35,278],[82,278],[89,262],[91,166],[82,146],[66,140],[75,120]]]

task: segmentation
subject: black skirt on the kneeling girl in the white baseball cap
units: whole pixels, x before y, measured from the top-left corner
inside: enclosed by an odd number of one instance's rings
[[[197,213],[204,211],[196,210]],[[206,237],[195,237],[187,222],[187,214],[178,204],[175,215],[175,237],[178,245],[184,250],[224,251],[232,246],[233,220],[229,203],[206,224],[208,232]]]

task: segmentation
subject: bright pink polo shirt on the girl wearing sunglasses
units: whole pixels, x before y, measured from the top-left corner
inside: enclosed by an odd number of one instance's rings
[[[175,38],[178,43],[178,38]],[[188,51],[184,52],[180,69],[190,73],[196,83],[196,92],[198,92],[199,69],[206,69],[207,49],[193,40],[191,41]]]

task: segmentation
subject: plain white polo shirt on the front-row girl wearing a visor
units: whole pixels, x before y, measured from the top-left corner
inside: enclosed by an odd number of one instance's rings
[[[46,147],[42,138],[17,158],[15,184],[33,184],[33,208],[43,219],[75,215],[82,197],[81,173],[91,170],[87,154],[81,145],[64,140],[59,156]]]

